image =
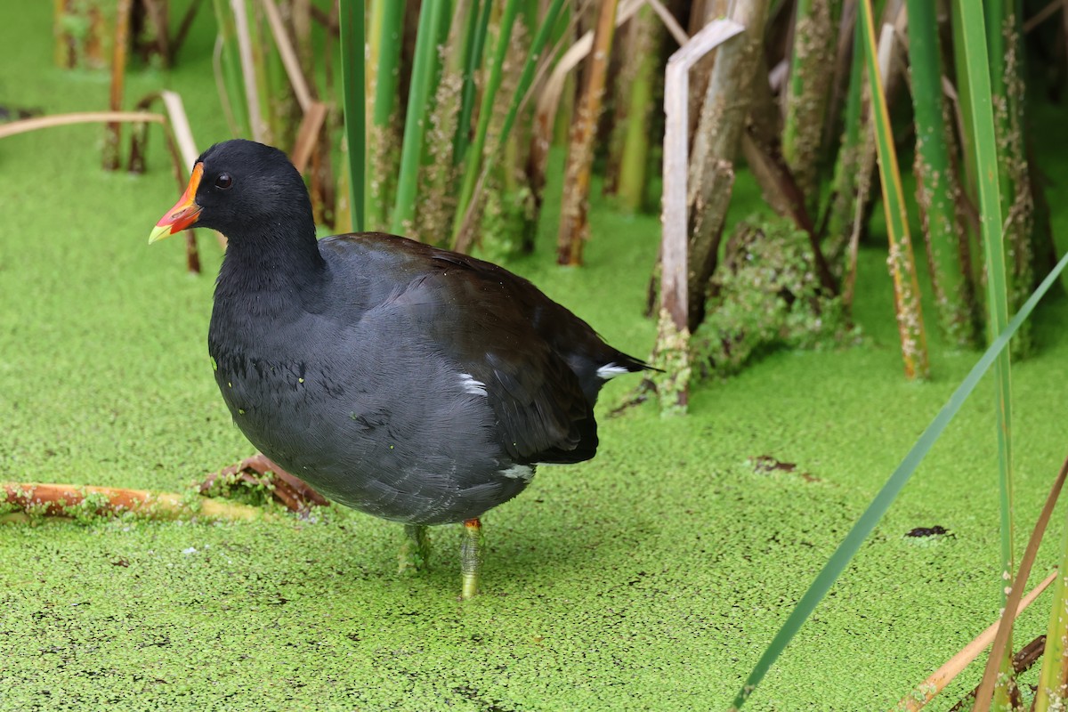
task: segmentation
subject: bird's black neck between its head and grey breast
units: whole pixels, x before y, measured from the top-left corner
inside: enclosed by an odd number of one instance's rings
[[[256,235],[230,237],[216,296],[271,292],[299,296],[323,279],[326,263],[315,225],[276,223]]]

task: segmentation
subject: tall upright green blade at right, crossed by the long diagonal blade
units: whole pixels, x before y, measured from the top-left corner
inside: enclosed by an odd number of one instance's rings
[[[976,180],[979,193],[980,230],[987,267],[987,310],[989,333],[1001,333],[1008,320],[1008,292],[1005,276],[1004,236],[1001,209],[1001,187],[998,174],[998,145],[994,133],[993,102],[990,85],[990,56],[987,52],[987,30],[983,17],[983,3],[956,0],[954,10],[959,14],[961,51],[971,101],[972,138]],[[1002,576],[1011,576],[1012,563],[1012,417],[1009,352],[1004,351],[994,365],[995,409],[998,414],[998,464],[1001,495],[1001,556]],[[1009,579],[999,576],[1004,604],[1004,583]],[[993,693],[996,668],[1011,665],[1011,645],[1001,655],[991,651],[983,683],[975,698],[975,710],[986,710]],[[1011,668],[1008,668],[1011,669]],[[1007,695],[1004,684],[998,684],[1000,709],[1006,709]]]

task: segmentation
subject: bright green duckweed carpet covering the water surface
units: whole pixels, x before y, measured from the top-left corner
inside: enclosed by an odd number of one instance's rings
[[[48,68],[49,12],[5,14],[5,100],[103,108],[105,77]],[[130,96],[180,91],[202,145],[225,137],[205,16],[179,73],[128,83]],[[162,145],[150,174],[105,174],[101,131],[0,142],[0,478],[178,491],[250,454],[204,359],[219,254],[202,236],[197,278],[177,241],[144,246],[176,195]],[[735,195],[759,201],[744,176]],[[552,215],[539,253],[512,266],[645,354],[658,221],[595,205],[591,222],[587,268],[552,265]],[[598,457],[543,468],[485,517],[483,595],[464,604],[459,527],[431,532],[428,571],[397,576],[402,527],[339,507],[309,521],[0,527],[0,710],[725,708],[977,358],[934,338],[931,380],[907,383],[883,256],[861,259],[861,346],[764,354],[700,384],[685,418],[655,404],[608,417],[634,379],[611,382]],[[1039,352],[1015,369],[1021,527],[1064,455],[1068,404],[1050,386],[1068,369],[1066,317],[1063,301],[1040,308]],[[747,709],[890,707],[993,620],[993,427],[979,393]],[[797,466],[767,472],[761,456]],[[954,536],[905,537],[936,524]],[[1021,640],[1045,630],[1045,605],[1023,616]]]

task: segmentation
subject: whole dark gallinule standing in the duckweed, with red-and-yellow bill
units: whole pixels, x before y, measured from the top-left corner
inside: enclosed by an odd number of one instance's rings
[[[464,522],[462,596],[477,590],[478,517],[538,463],[597,452],[594,401],[648,366],[527,280],[381,233],[316,240],[303,179],[252,141],[205,151],[150,242],[229,238],[208,352],[234,422],[265,456],[341,504],[426,526]]]

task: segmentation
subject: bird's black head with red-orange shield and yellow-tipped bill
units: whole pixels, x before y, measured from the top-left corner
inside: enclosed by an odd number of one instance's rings
[[[235,139],[201,154],[186,191],[156,223],[148,242],[188,227],[210,227],[240,239],[294,220],[312,221],[300,173],[278,148]]]

